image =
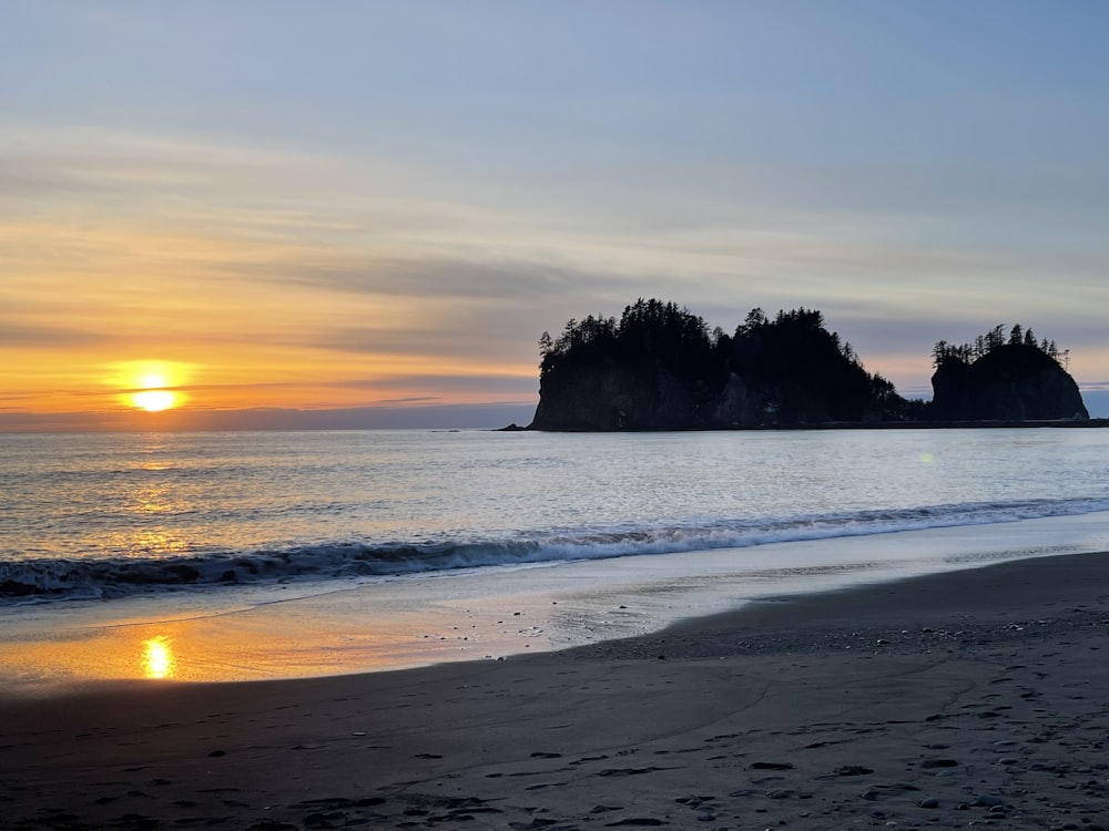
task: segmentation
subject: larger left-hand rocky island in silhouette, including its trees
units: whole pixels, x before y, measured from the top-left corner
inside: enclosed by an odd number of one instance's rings
[[[673,304],[570,321],[545,336],[535,430],[726,430],[879,421],[904,400],[867,373],[818,311],[755,309],[710,334]]]

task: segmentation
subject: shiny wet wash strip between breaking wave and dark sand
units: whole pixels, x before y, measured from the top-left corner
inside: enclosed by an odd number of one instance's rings
[[[471,570],[213,606],[132,597],[0,615],[0,685],[251,680],[498,659],[655,632],[766,597],[1109,551],[1109,513]],[[283,596],[284,595],[284,596]]]

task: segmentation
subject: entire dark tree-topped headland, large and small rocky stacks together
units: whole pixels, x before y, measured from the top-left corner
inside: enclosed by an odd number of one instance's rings
[[[639,299],[619,319],[570,320],[539,341],[529,430],[999,427],[1090,422],[1067,353],[1019,324],[933,349],[932,401],[867,372],[814,309],[753,309],[734,332]]]

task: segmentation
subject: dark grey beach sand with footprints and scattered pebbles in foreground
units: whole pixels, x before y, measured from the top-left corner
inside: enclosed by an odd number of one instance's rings
[[[0,699],[0,828],[1109,828],[1109,554],[563,653]]]

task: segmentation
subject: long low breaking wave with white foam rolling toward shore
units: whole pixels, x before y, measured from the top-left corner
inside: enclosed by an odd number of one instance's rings
[[[386,577],[980,525],[1109,511],[1109,500],[963,503],[764,520],[578,529],[488,540],[333,542],[285,551],[0,562],[0,603],[115,598],[241,584]]]

